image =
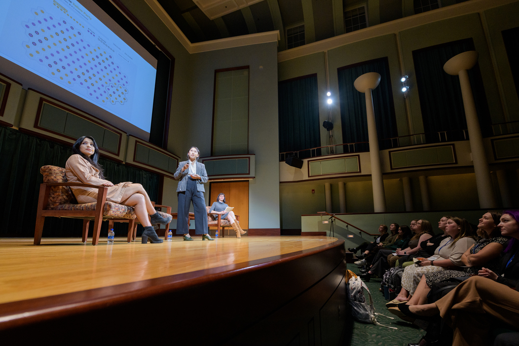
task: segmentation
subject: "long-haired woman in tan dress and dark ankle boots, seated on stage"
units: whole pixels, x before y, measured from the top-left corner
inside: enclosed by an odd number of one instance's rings
[[[72,155],[65,164],[65,175],[70,183],[84,183],[107,186],[106,201],[132,206],[139,222],[144,226],[142,243],[162,243],[152,224],[166,225],[171,215],[158,212],[149,200],[148,194],[141,184],[119,183],[114,185],[103,175],[103,167],[98,163],[99,148],[93,137],[80,137],[72,146]],[[98,189],[93,187],[71,186],[79,203],[97,202]],[[149,218],[151,215],[151,220]]]

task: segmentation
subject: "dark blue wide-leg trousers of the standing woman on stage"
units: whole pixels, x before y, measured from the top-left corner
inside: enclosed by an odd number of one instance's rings
[[[176,220],[176,234],[189,233],[189,207],[193,202],[195,209],[195,233],[207,234],[209,232],[207,226],[207,209],[206,199],[203,198],[203,192],[196,188],[196,181],[187,178],[187,186],[185,191],[177,192],[179,197],[179,214]]]

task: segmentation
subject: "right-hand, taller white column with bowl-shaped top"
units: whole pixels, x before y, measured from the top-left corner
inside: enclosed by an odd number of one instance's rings
[[[483,146],[483,136],[481,135],[480,122],[477,118],[474,95],[470,87],[470,80],[467,70],[474,67],[477,62],[477,52],[474,50],[463,52],[450,58],[443,70],[449,75],[459,76],[461,85],[461,95],[463,106],[465,107],[465,117],[467,118],[467,129],[469,131],[470,150],[472,151],[472,162],[474,164],[474,174],[476,176],[477,197],[480,200],[480,208],[496,208],[496,196],[490,177],[490,169]]]

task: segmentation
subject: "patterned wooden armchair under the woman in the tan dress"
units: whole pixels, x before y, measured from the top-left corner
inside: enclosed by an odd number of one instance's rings
[[[65,169],[56,166],[43,166],[43,184],[39,187],[36,227],[34,229],[34,245],[42,241],[43,225],[47,216],[71,217],[83,219],[83,242],[88,237],[90,220],[94,220],[92,245],[99,242],[101,223],[110,219],[128,220],[128,242],[131,242],[135,228],[135,212],[131,206],[106,201],[108,188],[104,186],[68,183]],[[78,204],[69,186],[85,186],[99,189],[97,202]]]

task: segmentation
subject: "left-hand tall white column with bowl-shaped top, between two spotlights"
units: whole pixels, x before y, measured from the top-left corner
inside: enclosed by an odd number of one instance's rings
[[[353,82],[353,86],[366,96],[367,135],[370,142],[371,182],[373,185],[373,206],[375,212],[386,211],[386,193],[380,166],[380,151],[378,149],[377,126],[373,109],[371,91],[378,87],[380,75],[376,72],[365,73]]]

